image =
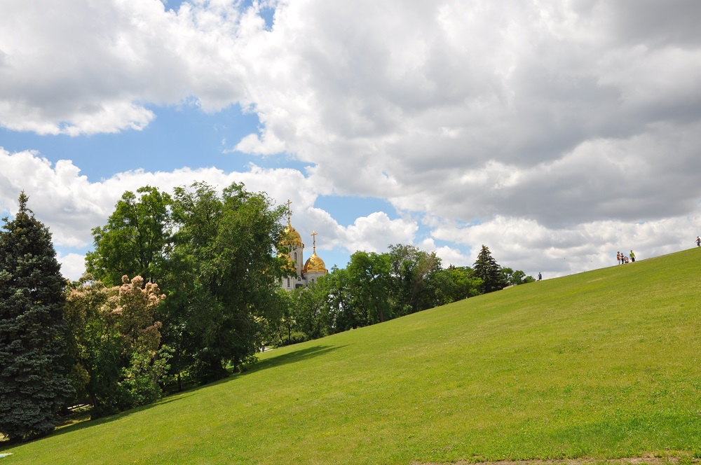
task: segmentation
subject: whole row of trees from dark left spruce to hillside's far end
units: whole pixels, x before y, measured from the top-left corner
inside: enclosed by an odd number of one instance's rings
[[[266,345],[532,280],[486,247],[473,268],[442,268],[397,244],[287,293],[285,208],[240,183],[221,194],[195,183],[125,192],[93,229],[86,275],[67,282],[27,200],[0,231],[0,432],[15,441],[53,431],[69,405],[110,415],[245,370]]]

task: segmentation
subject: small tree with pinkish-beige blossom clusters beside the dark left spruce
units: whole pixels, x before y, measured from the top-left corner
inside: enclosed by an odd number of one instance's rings
[[[151,402],[161,396],[158,382],[168,369],[170,351],[161,345],[156,310],[165,296],[142,277],[122,277],[107,288],[89,276],[69,285],[64,319],[71,328],[72,352],[81,386],[94,405],[93,417]]]

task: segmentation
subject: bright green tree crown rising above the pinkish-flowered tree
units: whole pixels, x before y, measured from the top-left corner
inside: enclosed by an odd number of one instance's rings
[[[161,282],[170,248],[171,198],[151,186],[137,194],[123,193],[107,224],[93,228],[95,250],[86,255],[86,269],[107,286],[121,284],[123,275]]]

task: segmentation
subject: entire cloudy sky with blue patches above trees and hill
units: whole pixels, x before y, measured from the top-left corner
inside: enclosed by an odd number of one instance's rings
[[[697,0],[4,0],[0,216],[77,279],[125,190],[243,182],[327,268],[569,275],[695,247]],[[306,239],[305,239],[306,238]]]

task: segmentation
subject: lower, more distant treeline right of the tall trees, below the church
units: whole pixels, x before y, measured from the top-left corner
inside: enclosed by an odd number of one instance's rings
[[[308,288],[278,293],[284,307],[271,342],[288,345],[533,282],[502,268],[482,246],[472,268],[442,268],[435,252],[395,244],[384,254],[358,251],[344,269],[333,268]]]

